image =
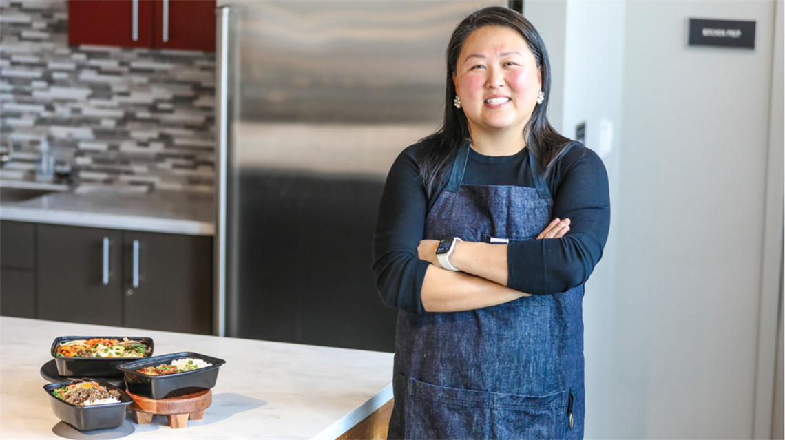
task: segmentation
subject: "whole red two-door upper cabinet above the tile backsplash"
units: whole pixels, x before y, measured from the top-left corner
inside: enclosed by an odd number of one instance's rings
[[[214,52],[215,0],[68,0],[68,44]]]

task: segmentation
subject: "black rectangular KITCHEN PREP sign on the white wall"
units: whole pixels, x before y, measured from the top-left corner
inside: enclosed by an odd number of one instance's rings
[[[689,45],[755,49],[755,22],[689,19]]]

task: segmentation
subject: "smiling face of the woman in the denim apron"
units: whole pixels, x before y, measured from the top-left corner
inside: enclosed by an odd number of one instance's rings
[[[466,38],[452,81],[473,136],[478,131],[523,133],[542,88],[526,40],[518,31],[497,26],[480,27]]]

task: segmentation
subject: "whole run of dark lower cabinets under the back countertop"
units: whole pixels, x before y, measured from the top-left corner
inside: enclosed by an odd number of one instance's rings
[[[0,315],[210,334],[213,238],[0,222]]]

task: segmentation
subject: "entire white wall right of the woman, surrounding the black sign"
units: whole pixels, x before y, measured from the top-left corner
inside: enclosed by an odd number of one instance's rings
[[[584,300],[586,438],[752,438],[761,420],[771,426],[771,406],[755,405],[756,392],[762,401],[773,389],[768,304],[780,278],[761,268],[781,264],[765,246],[781,237],[771,222],[781,231],[783,216],[782,188],[769,196],[779,204],[765,197],[767,179],[782,181],[780,167],[767,167],[778,151],[769,147],[774,9],[773,0],[524,3],[564,66],[552,121],[571,137],[586,121],[595,150],[599,120],[614,125],[604,156],[611,236]],[[755,20],[756,49],[687,46],[688,17]]]

